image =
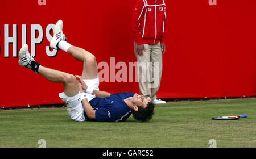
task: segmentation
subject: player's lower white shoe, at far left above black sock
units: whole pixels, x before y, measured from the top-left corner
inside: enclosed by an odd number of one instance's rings
[[[28,45],[24,44],[19,51],[19,65],[31,69],[31,61],[35,60],[28,52]]]

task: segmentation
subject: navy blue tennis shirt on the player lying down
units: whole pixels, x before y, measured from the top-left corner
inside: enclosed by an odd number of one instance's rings
[[[97,122],[123,122],[131,115],[131,109],[125,99],[133,97],[134,93],[125,92],[112,94],[105,98],[93,98],[89,103],[96,110]],[[85,113],[85,119],[90,120]]]

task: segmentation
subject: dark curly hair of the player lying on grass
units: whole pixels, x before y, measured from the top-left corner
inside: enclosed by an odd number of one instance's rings
[[[132,111],[133,118],[141,120],[142,122],[148,122],[148,120],[152,119],[152,116],[154,115],[154,108],[155,105],[152,102],[149,102],[146,108],[138,106],[138,111]]]

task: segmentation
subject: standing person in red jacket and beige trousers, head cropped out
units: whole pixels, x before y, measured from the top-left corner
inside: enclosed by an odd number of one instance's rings
[[[166,51],[165,23],[166,3],[164,0],[137,0],[133,15],[133,36],[138,61],[139,90],[154,104],[166,103],[156,97],[162,77],[162,56]],[[146,65],[148,62],[151,62],[152,69],[146,66],[147,71],[140,70],[139,66]],[[148,77],[151,79],[148,80]],[[158,77],[158,79],[154,80],[152,77]],[[154,87],[150,87],[152,83]]]

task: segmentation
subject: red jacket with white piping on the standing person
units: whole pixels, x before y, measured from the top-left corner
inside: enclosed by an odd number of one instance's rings
[[[139,44],[165,43],[166,3],[164,0],[137,0],[133,14],[134,41]]]

